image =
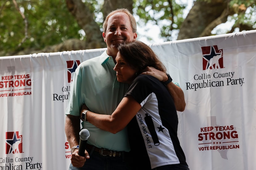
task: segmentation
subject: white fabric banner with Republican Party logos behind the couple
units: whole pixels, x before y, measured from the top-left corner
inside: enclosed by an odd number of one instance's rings
[[[184,91],[178,137],[189,168],[256,169],[256,31],[149,45]],[[0,57],[0,170],[68,169],[72,75],[105,49]]]

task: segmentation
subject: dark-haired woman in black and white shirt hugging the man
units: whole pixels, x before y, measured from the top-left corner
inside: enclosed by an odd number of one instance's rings
[[[148,66],[166,72],[164,65],[141,41],[120,44],[116,62],[117,80],[129,83],[128,91],[112,115],[86,110],[85,120],[111,133],[128,125],[135,168],[188,170],[172,97],[158,79],[141,74]]]

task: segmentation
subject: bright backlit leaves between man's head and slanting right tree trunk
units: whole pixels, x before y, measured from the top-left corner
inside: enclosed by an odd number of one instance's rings
[[[170,3],[171,2],[171,3]],[[180,25],[184,21],[183,10],[187,4],[164,0],[137,0],[134,3],[134,14],[140,17],[138,25],[145,26],[153,21],[161,29],[164,41],[172,41],[177,37]]]

